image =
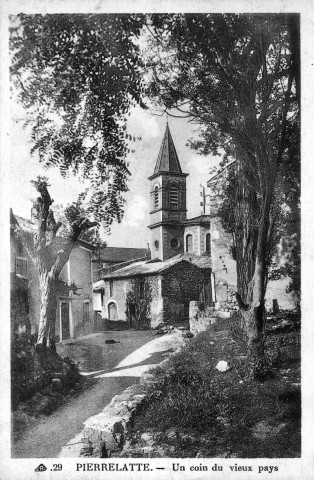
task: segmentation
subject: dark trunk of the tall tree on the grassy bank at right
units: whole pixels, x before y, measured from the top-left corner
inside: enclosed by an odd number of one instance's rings
[[[270,195],[261,206],[256,197],[239,185],[236,209],[236,247],[238,304],[241,326],[246,335],[248,355],[254,376],[264,368],[265,291],[267,276],[267,235],[269,230]],[[256,217],[259,213],[259,222]]]

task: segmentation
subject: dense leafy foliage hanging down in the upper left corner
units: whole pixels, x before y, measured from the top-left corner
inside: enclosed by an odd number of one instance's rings
[[[11,16],[11,77],[46,167],[88,179],[89,213],[121,219],[130,107],[142,104],[142,15]]]

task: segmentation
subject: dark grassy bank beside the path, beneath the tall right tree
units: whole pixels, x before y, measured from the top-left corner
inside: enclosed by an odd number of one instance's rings
[[[136,449],[143,456],[143,433],[174,458],[300,456],[299,333],[268,336],[272,375],[257,382],[234,332],[234,323],[221,321],[154,370],[155,383],[131,425],[133,456]],[[219,360],[231,369],[218,372]],[[160,455],[152,447],[144,456]]]

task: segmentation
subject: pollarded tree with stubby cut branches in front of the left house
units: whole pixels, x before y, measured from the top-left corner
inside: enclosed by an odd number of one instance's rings
[[[95,227],[97,222],[92,222],[81,215],[79,209],[76,209],[74,214],[72,207],[68,234],[66,237],[58,237],[57,233],[62,223],[56,222],[54,218],[51,208],[53,200],[48,191],[47,178],[38,177],[32,183],[40,194],[33,207],[34,229],[23,228],[14,215],[11,223],[14,234],[22,242],[38,272],[41,306],[37,345],[54,347],[59,275],[80,236]],[[68,285],[68,289],[75,291],[76,286]]]

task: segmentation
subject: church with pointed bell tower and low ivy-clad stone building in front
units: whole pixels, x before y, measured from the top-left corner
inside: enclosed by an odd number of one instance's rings
[[[188,319],[190,301],[213,302],[211,217],[187,219],[186,178],[167,124],[150,181],[150,259],[104,268],[96,310],[128,328]]]

